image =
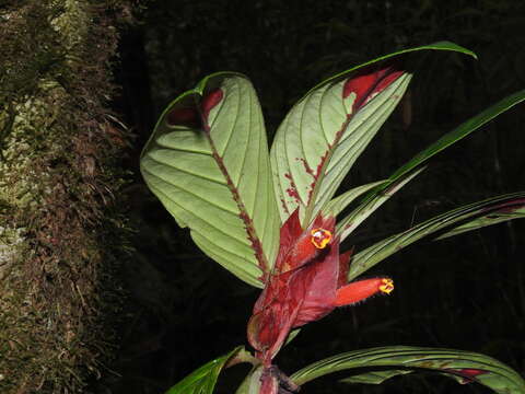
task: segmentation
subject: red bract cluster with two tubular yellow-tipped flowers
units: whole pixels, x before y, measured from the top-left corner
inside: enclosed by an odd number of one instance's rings
[[[319,320],[337,306],[394,289],[388,278],[347,285],[350,253],[339,255],[339,239],[334,233],[335,218],[320,215],[303,230],[299,210],[282,225],[273,273],[248,322],[248,340],[265,367],[271,364],[292,328]]]

